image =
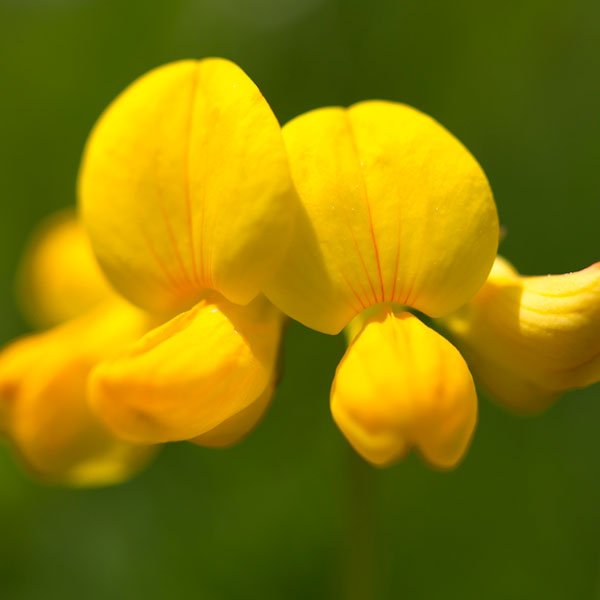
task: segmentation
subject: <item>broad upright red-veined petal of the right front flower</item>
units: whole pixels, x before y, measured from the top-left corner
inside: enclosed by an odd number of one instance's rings
[[[447,314],[484,283],[498,245],[492,194],[433,119],[371,101],[309,112],[283,133],[304,209],[266,288],[283,312],[337,333],[380,302]]]

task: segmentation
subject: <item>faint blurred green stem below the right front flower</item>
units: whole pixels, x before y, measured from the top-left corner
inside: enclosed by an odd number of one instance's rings
[[[374,467],[348,446],[348,511],[344,564],[346,600],[375,600],[378,586],[377,506]]]

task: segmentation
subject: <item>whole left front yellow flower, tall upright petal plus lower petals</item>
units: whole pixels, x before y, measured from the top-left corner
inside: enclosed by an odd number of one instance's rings
[[[151,71],[94,127],[79,200],[109,280],[163,322],[95,369],[94,410],[134,442],[237,441],[273,393],[283,315],[261,291],[297,205],[260,91],[222,59]]]

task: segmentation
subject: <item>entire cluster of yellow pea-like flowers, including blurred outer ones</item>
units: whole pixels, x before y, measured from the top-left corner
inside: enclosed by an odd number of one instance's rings
[[[79,217],[21,269],[46,330],[0,354],[0,430],[41,477],[103,485],[165,442],[237,442],[271,401],[287,317],[345,331],[331,410],[376,465],[458,463],[469,366],[523,412],[600,380],[600,264],[519,276],[481,167],[408,106],[281,128],[231,62],[169,64],[101,116],[78,190]]]

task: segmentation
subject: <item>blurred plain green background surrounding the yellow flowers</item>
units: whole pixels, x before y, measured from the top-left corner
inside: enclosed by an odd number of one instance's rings
[[[600,259],[597,0],[0,0],[0,341],[28,232],[74,202],[86,135],[146,70],[224,56],[282,122],[385,98],[486,170],[526,273]],[[0,598],[336,598],[348,452],[328,410],[341,339],[292,326],[272,410],[227,451],[165,448],[135,480],[37,484],[0,448]],[[535,419],[485,397],[466,460],[373,473],[380,598],[600,598],[600,387]],[[368,600],[365,598],[365,600]]]

